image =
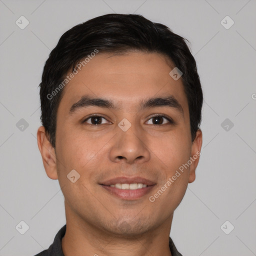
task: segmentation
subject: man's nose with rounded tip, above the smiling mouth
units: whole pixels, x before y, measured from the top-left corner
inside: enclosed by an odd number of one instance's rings
[[[123,131],[117,127],[110,149],[110,160],[113,162],[125,162],[128,164],[143,163],[150,159],[148,141],[143,130],[133,128],[135,125]]]

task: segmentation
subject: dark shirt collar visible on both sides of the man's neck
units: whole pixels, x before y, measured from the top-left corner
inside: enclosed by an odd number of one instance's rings
[[[59,231],[55,235],[53,243],[49,246],[49,248],[41,251],[40,253],[34,256],[64,256],[61,248],[61,239],[64,236],[65,231],[66,231],[66,224],[59,229]],[[171,256],[182,256],[177,251],[170,237],[169,237],[169,247],[170,247]]]

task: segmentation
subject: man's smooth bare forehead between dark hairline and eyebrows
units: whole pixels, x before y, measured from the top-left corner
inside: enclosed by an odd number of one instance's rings
[[[174,65],[162,54],[129,52],[122,55],[97,53],[65,85],[59,108],[68,107],[83,95],[108,97],[127,110],[141,98],[173,95],[184,108],[186,97],[182,79],[169,72]]]

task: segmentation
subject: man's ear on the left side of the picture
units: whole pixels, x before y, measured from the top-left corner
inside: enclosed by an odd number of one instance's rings
[[[47,176],[51,179],[57,179],[55,149],[48,140],[44,126],[40,126],[37,130],[37,144]]]

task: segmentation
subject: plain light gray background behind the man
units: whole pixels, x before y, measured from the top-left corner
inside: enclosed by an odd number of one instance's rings
[[[255,0],[0,0],[0,255],[34,255],[65,224],[58,181],[46,176],[37,147],[37,86],[63,32],[112,12],[166,24],[191,42],[197,62],[203,145],[196,179],[174,212],[178,250],[256,255]],[[15,24],[21,15],[29,21],[24,29]],[[226,15],[234,21],[229,29],[220,22]],[[24,234],[15,229],[21,220],[29,226]],[[229,234],[220,228],[226,220],[234,226]]]

